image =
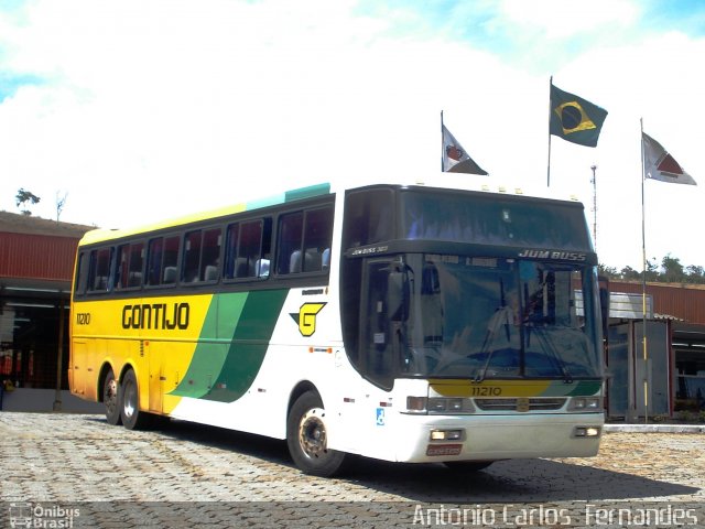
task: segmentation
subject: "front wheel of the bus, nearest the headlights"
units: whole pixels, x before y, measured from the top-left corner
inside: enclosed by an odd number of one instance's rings
[[[328,477],[340,471],[345,452],[328,450],[323,401],[315,391],[296,399],[286,420],[286,444],[294,464],[305,474]]]

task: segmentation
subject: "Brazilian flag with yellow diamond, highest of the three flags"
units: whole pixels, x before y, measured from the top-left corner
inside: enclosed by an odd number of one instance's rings
[[[551,83],[550,132],[578,145],[596,147],[607,110]]]

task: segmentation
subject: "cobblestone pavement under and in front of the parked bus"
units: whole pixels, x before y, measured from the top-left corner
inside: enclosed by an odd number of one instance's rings
[[[466,475],[356,457],[327,479],[282,441],[183,422],[3,412],[0,446],[0,528],[705,527],[704,434],[607,433],[597,457]]]

